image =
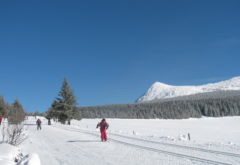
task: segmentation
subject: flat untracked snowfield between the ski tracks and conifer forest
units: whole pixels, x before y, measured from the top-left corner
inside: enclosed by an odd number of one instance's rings
[[[74,121],[72,125],[95,130],[100,119],[83,119]],[[158,138],[179,139],[190,133],[191,139],[198,143],[232,142],[240,145],[240,117],[203,117],[190,119],[108,119],[109,131],[113,133]]]

